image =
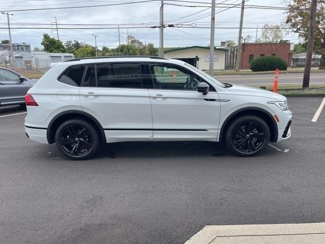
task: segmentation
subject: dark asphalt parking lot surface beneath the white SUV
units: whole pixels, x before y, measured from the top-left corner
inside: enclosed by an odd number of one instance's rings
[[[254,158],[135,142],[70,161],[27,139],[21,107],[0,108],[0,243],[174,244],[206,225],[323,222],[325,109],[311,121],[322,99],[288,98],[291,138]]]

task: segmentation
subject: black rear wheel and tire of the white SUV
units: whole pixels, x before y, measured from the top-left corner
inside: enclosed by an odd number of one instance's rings
[[[100,137],[93,125],[81,118],[64,121],[55,132],[59,151],[73,160],[84,160],[96,155]]]

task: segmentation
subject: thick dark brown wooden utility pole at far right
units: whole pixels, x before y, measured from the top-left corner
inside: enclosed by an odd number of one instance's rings
[[[311,62],[312,62],[313,49],[314,49],[316,12],[317,12],[317,0],[312,0],[310,4],[308,44],[307,44],[306,65],[305,65],[304,79],[303,79],[303,88],[309,87],[310,69],[311,69]]]

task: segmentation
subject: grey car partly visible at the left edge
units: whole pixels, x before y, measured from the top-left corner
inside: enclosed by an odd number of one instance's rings
[[[25,105],[25,95],[37,81],[0,67],[0,107]]]

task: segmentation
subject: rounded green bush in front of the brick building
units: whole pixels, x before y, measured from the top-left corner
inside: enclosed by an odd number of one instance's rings
[[[276,56],[263,56],[255,58],[250,64],[250,69],[253,72],[257,71],[272,71],[272,70],[287,70],[287,63],[280,57]]]

